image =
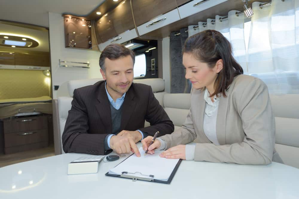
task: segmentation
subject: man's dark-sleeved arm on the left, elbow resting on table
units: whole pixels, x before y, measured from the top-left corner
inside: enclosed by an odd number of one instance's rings
[[[89,134],[88,129],[87,109],[78,90],[75,89],[72,107],[68,111],[68,118],[62,134],[63,150],[66,153],[75,152],[94,155],[110,153],[112,150],[107,152],[104,150],[104,140],[108,134]]]

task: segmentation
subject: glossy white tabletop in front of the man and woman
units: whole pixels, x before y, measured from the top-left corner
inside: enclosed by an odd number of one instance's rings
[[[170,184],[105,176],[122,158],[101,161],[95,174],[67,175],[68,163],[84,155],[68,153],[0,168],[0,198],[299,198],[299,169],[280,163],[182,161]]]

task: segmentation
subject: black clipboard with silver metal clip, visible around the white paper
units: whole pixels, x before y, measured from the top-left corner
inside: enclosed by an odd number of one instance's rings
[[[134,153],[133,153],[134,154]],[[132,154],[132,155],[133,155]],[[131,156],[131,155],[130,155]],[[129,157],[130,157],[129,156]],[[129,158],[128,157],[128,158]],[[127,158],[126,158],[127,159]],[[124,159],[123,161],[125,161],[126,159]],[[123,161],[121,161],[120,163],[122,163]],[[168,181],[162,181],[162,180],[155,180],[153,179],[154,176],[153,175],[142,175],[139,172],[135,172],[135,173],[128,173],[126,171],[122,172],[121,175],[117,175],[117,174],[111,174],[109,172],[107,172],[105,175],[106,176],[112,176],[112,177],[119,177],[119,178],[128,178],[128,179],[132,179],[133,181],[137,181],[137,180],[142,180],[142,181],[149,181],[149,182],[157,182],[157,183],[164,183],[164,184],[170,184],[173,176],[176,174],[176,171],[178,170],[180,164],[181,164],[182,159],[179,159],[178,163],[176,163],[176,166],[174,167],[173,171],[171,172]],[[119,164],[120,164],[119,163]],[[118,164],[118,165],[119,165]],[[117,165],[116,165],[117,166]],[[134,176],[136,173],[138,173],[139,176]],[[142,176],[142,177],[141,177]]]

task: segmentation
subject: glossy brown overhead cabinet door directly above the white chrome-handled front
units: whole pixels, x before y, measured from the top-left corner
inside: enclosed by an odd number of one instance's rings
[[[176,0],[133,0],[132,7],[136,26],[176,9]]]

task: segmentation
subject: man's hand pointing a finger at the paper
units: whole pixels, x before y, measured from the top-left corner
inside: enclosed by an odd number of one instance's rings
[[[118,154],[129,153],[132,151],[137,157],[140,157],[140,152],[134,140],[129,136],[112,136],[110,139],[110,147]]]

